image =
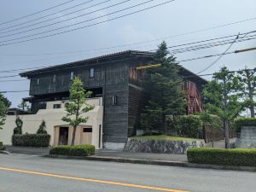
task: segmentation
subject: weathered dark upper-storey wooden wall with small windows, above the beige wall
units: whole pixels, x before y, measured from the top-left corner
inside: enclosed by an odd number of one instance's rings
[[[90,78],[90,68],[94,68],[94,78]],[[72,84],[72,80],[70,79],[71,72],[74,73],[74,76],[78,76],[84,82],[86,88],[97,88],[113,84],[127,84],[128,81],[126,65],[113,64],[106,65],[106,67],[84,67],[56,73],[51,72],[32,78],[30,95],[37,96],[68,91]]]

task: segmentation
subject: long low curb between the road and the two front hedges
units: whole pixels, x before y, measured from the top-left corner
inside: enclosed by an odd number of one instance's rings
[[[125,158],[106,157],[106,156],[79,157],[79,156],[68,156],[68,155],[57,155],[57,154],[44,154],[42,155],[42,157],[70,159],[70,160],[97,160],[97,161],[132,163],[132,164],[143,164],[143,165],[154,165],[154,166],[180,166],[180,167],[201,168],[201,169],[256,172],[256,167],[253,167],[253,166],[217,166],[217,165],[206,165],[206,164],[193,164],[193,163],[182,162],[182,161],[140,160],[140,159],[125,159]]]

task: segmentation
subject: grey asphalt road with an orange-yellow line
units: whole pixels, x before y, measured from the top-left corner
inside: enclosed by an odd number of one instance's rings
[[[256,172],[0,154],[4,192],[255,192]]]

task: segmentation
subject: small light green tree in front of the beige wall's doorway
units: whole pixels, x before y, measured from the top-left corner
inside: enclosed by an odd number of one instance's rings
[[[67,115],[63,117],[62,120],[73,126],[71,145],[74,145],[78,125],[86,123],[89,119],[84,113],[92,110],[94,106],[90,106],[86,103],[86,98],[89,97],[92,92],[84,90],[84,84],[78,77],[73,80],[69,93],[69,102],[65,105]]]

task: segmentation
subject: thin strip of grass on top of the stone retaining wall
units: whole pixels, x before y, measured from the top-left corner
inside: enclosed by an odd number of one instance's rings
[[[131,139],[167,140],[167,141],[185,141],[185,142],[201,140],[201,139],[196,139],[196,138],[175,137],[175,136],[167,136],[167,135],[136,136],[136,137],[131,137]]]

